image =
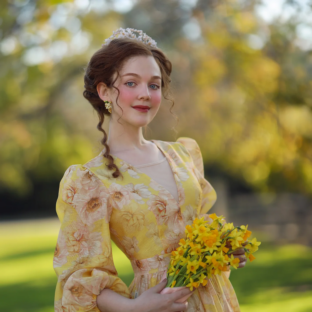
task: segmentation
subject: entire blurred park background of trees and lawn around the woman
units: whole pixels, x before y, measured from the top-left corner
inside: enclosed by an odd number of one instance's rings
[[[173,63],[146,139],[197,140],[212,212],[249,224],[256,261],[232,271],[242,312],[312,311],[310,0],[0,2],[0,310],[52,312],[55,203],[72,164],[102,149],[84,66],[119,27]],[[107,121],[105,127],[107,129]],[[129,261],[113,246],[119,276]]]

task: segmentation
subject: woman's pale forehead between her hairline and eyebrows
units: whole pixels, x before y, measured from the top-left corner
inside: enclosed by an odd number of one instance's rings
[[[132,56],[124,62],[120,74],[135,73],[140,76],[161,76],[160,68],[153,56]]]

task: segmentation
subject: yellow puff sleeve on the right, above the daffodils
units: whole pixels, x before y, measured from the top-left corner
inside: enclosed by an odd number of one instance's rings
[[[193,159],[195,174],[202,188],[202,204],[200,214],[206,214],[216,202],[217,194],[211,184],[204,177],[204,163],[200,148],[197,142],[191,138],[180,137],[177,139],[177,142],[184,145]]]

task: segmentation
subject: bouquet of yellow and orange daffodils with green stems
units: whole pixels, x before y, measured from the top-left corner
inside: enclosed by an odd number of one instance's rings
[[[247,240],[251,235],[248,225],[234,227],[215,213],[209,217],[211,224],[202,217],[185,227],[186,239],[181,239],[180,247],[172,251],[166,287],[186,286],[193,290],[200,284],[205,286],[212,274],[221,275],[222,271],[227,271],[228,265],[237,269],[240,261],[231,253],[239,248],[244,248],[250,261],[256,259],[252,254],[261,242],[256,238]]]

